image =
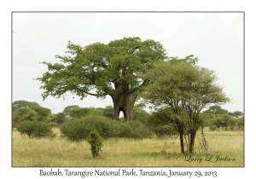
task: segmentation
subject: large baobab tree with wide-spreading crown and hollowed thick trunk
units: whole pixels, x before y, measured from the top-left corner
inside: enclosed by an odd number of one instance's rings
[[[166,59],[166,50],[154,40],[123,38],[108,44],[92,43],[85,47],[68,42],[68,56],[55,55],[61,63],[43,62],[49,72],[37,78],[44,89],[42,94],[63,97],[67,91],[79,95],[83,100],[87,95],[113,100],[114,119],[124,113],[125,121],[133,119],[133,107],[137,90],[148,84],[146,78],[138,75],[148,71],[154,61]],[[92,90],[95,90],[93,92]]]

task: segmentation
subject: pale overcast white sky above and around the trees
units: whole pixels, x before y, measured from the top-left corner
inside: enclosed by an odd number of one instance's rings
[[[43,101],[40,82],[47,66],[66,55],[67,42],[80,46],[109,43],[125,37],[160,42],[168,56],[195,55],[198,65],[218,75],[218,84],[232,100],[222,108],[229,112],[244,107],[244,14],[243,13],[13,13],[13,101],[36,101],[52,113],[64,107],[106,107],[112,99],[95,96],[79,100],[67,93],[65,100],[49,96]],[[74,97],[74,98],[73,98]]]

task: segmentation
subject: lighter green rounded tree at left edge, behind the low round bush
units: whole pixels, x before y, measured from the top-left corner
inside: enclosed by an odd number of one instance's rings
[[[13,127],[24,121],[37,121],[39,115],[30,107],[19,107],[13,112]]]

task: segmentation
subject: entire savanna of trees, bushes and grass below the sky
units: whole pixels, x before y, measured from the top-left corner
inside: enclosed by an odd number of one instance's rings
[[[67,49],[55,56],[60,63],[43,62],[43,98],[110,95],[113,105],[51,113],[14,101],[14,166],[243,165],[243,113],[222,109],[230,98],[194,55],[168,57],[159,42],[140,38]]]

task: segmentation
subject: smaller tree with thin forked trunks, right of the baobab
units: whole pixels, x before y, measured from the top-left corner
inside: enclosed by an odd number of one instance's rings
[[[216,84],[218,78],[213,71],[193,64],[197,60],[193,55],[173,60],[158,62],[145,74],[150,84],[144,88],[143,97],[159,112],[154,114],[158,123],[172,124],[177,130],[181,153],[185,152],[184,139],[188,152],[193,153],[196,132],[203,129],[201,110],[230,99]]]

